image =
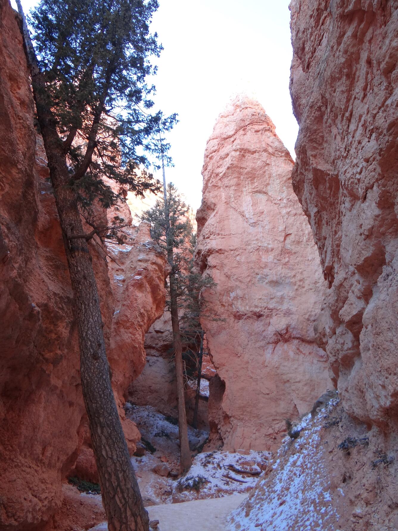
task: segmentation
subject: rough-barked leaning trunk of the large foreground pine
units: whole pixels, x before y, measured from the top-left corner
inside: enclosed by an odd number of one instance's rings
[[[47,153],[75,298],[82,391],[108,529],[148,531],[148,512],[143,506],[111,388],[90,251],[85,238],[69,239],[73,235],[84,234],[84,230],[75,193],[68,186],[70,176],[63,143],[48,105],[44,78],[31,45],[20,0],[17,0],[17,4],[22,17],[22,35],[31,70],[33,97]]]

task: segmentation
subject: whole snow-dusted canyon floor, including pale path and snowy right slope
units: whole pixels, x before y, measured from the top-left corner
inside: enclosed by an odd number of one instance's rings
[[[331,400],[314,421],[309,414],[302,418],[295,427],[300,436],[286,437],[273,461],[266,451],[198,453],[180,477],[153,472],[159,464],[178,470],[175,420],[150,406],[128,406],[127,415],[153,446],[153,453],[146,450],[132,458],[150,518],[160,520],[160,531],[335,531],[330,485],[319,455],[324,419],[336,404]],[[202,443],[206,435],[189,427],[191,441]]]

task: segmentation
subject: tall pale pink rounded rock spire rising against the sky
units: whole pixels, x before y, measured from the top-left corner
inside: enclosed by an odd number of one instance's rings
[[[274,449],[284,418],[309,410],[331,381],[315,344],[325,292],[308,221],[293,193],[289,152],[258,102],[237,97],[207,142],[196,262],[221,320],[202,317],[225,384],[224,448]]]

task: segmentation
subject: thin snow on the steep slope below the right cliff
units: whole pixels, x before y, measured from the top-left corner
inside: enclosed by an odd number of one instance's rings
[[[338,404],[332,400],[326,416]],[[283,440],[270,474],[259,481],[246,502],[229,516],[226,529],[251,531],[334,531],[331,494],[319,459],[319,432],[325,412],[312,423],[306,415],[298,439]]]

